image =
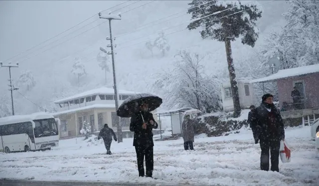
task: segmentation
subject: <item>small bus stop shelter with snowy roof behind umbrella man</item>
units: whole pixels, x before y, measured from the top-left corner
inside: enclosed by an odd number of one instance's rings
[[[182,114],[185,111],[191,110],[192,108],[180,108],[175,110],[170,110],[166,112],[161,113],[155,113],[158,115],[159,121],[160,121],[160,130],[162,128],[160,117],[170,117],[170,124],[171,124],[171,134],[169,135],[162,135],[160,133],[160,138],[162,137],[172,137],[172,136],[181,136],[181,124],[183,122]]]

